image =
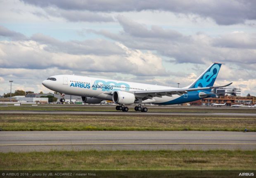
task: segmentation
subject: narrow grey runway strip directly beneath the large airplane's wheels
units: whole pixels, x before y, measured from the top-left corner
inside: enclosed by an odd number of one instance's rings
[[[256,116],[256,113],[218,113],[218,112],[135,112],[135,111],[34,111],[34,110],[1,110],[3,114],[69,114],[69,115],[238,115]]]

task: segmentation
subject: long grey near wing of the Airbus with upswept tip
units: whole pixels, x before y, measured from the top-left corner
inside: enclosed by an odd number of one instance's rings
[[[142,98],[142,100],[152,99],[153,97],[162,98],[162,96],[172,96],[173,94],[178,94],[182,96],[183,94],[187,94],[188,91],[198,91],[204,89],[215,89],[215,88],[222,88],[228,87],[232,83],[219,86],[219,87],[198,87],[198,88],[180,88],[180,89],[165,89],[165,90],[143,90],[143,91],[126,91],[129,93],[133,93],[137,98]],[[112,95],[114,91],[106,91],[104,94]],[[214,94],[214,93],[213,93]],[[212,94],[211,94],[212,95]]]

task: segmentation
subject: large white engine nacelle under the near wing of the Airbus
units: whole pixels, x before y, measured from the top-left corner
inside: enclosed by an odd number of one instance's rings
[[[135,96],[134,94],[126,91],[115,91],[113,93],[113,101],[118,104],[133,104]]]

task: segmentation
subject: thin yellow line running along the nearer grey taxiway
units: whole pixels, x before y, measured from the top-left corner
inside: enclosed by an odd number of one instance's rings
[[[256,143],[39,143],[3,144],[0,146],[52,146],[52,145],[256,145]]]

